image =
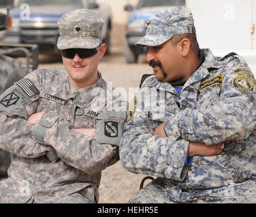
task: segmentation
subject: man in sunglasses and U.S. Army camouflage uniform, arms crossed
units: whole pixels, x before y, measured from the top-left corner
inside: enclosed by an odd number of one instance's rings
[[[101,170],[119,159],[126,102],[97,70],[103,19],[77,9],[58,24],[65,68],[33,71],[0,97],[0,147],[13,154],[1,203],[97,203]]]

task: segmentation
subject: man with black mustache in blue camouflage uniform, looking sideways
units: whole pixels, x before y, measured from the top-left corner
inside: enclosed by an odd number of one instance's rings
[[[136,45],[148,46],[155,75],[134,100],[120,157],[126,170],[157,178],[129,203],[255,203],[255,78],[246,62],[199,50],[186,7],[150,18]]]

